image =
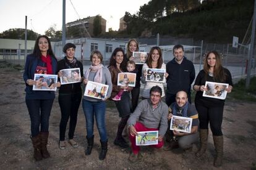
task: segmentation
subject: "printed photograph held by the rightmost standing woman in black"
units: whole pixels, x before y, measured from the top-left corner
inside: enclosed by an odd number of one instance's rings
[[[205,87],[207,87],[207,91],[203,91],[204,97],[211,97],[215,99],[226,99],[228,84],[225,83],[216,83],[211,81],[205,82]]]

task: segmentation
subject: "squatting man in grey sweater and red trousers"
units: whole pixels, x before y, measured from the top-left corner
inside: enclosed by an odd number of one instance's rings
[[[161,148],[164,145],[163,137],[168,127],[168,106],[161,101],[161,95],[161,87],[151,87],[150,99],[142,100],[127,121],[130,132],[129,139],[132,144],[129,156],[131,162],[135,162],[139,158],[140,147],[135,144],[137,132],[158,131],[158,145],[151,145],[151,147]]]

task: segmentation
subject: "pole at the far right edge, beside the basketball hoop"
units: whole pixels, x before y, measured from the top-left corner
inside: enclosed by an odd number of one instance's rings
[[[248,89],[250,85],[250,71],[252,68],[252,55],[254,54],[254,38],[255,38],[255,24],[256,24],[256,0],[254,0],[254,17],[252,19],[252,36],[250,38],[250,46],[249,46],[249,62],[248,62],[248,70],[247,70],[247,78],[245,83],[245,88]]]

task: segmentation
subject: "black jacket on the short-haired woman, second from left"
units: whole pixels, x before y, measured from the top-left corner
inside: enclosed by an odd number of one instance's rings
[[[57,67],[57,73],[59,72],[59,70],[67,69],[65,60],[59,60]],[[81,77],[83,77],[83,64],[77,60],[77,67],[75,68],[80,68]],[[72,94],[81,91],[81,83],[62,84],[61,87],[59,87],[59,94]]]

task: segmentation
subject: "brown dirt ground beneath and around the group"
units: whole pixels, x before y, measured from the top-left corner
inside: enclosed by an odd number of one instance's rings
[[[98,160],[100,139],[95,127],[92,155],[85,156],[85,117],[80,107],[75,140],[78,148],[66,144],[58,148],[60,109],[58,95],[54,100],[49,123],[48,150],[51,158],[36,162],[30,141],[30,118],[25,105],[25,84],[22,72],[3,68],[0,63],[0,164],[1,169],[215,169],[213,139],[210,135],[205,158],[195,158],[192,151],[180,149],[166,152],[142,147],[138,163],[129,163],[129,149],[113,144],[119,117],[113,103],[108,104],[106,126],[109,137],[108,154]],[[110,108],[112,106],[112,108]],[[219,169],[255,169],[256,164],[256,103],[226,102],[223,118],[224,160]],[[66,135],[67,136],[67,135]]]

